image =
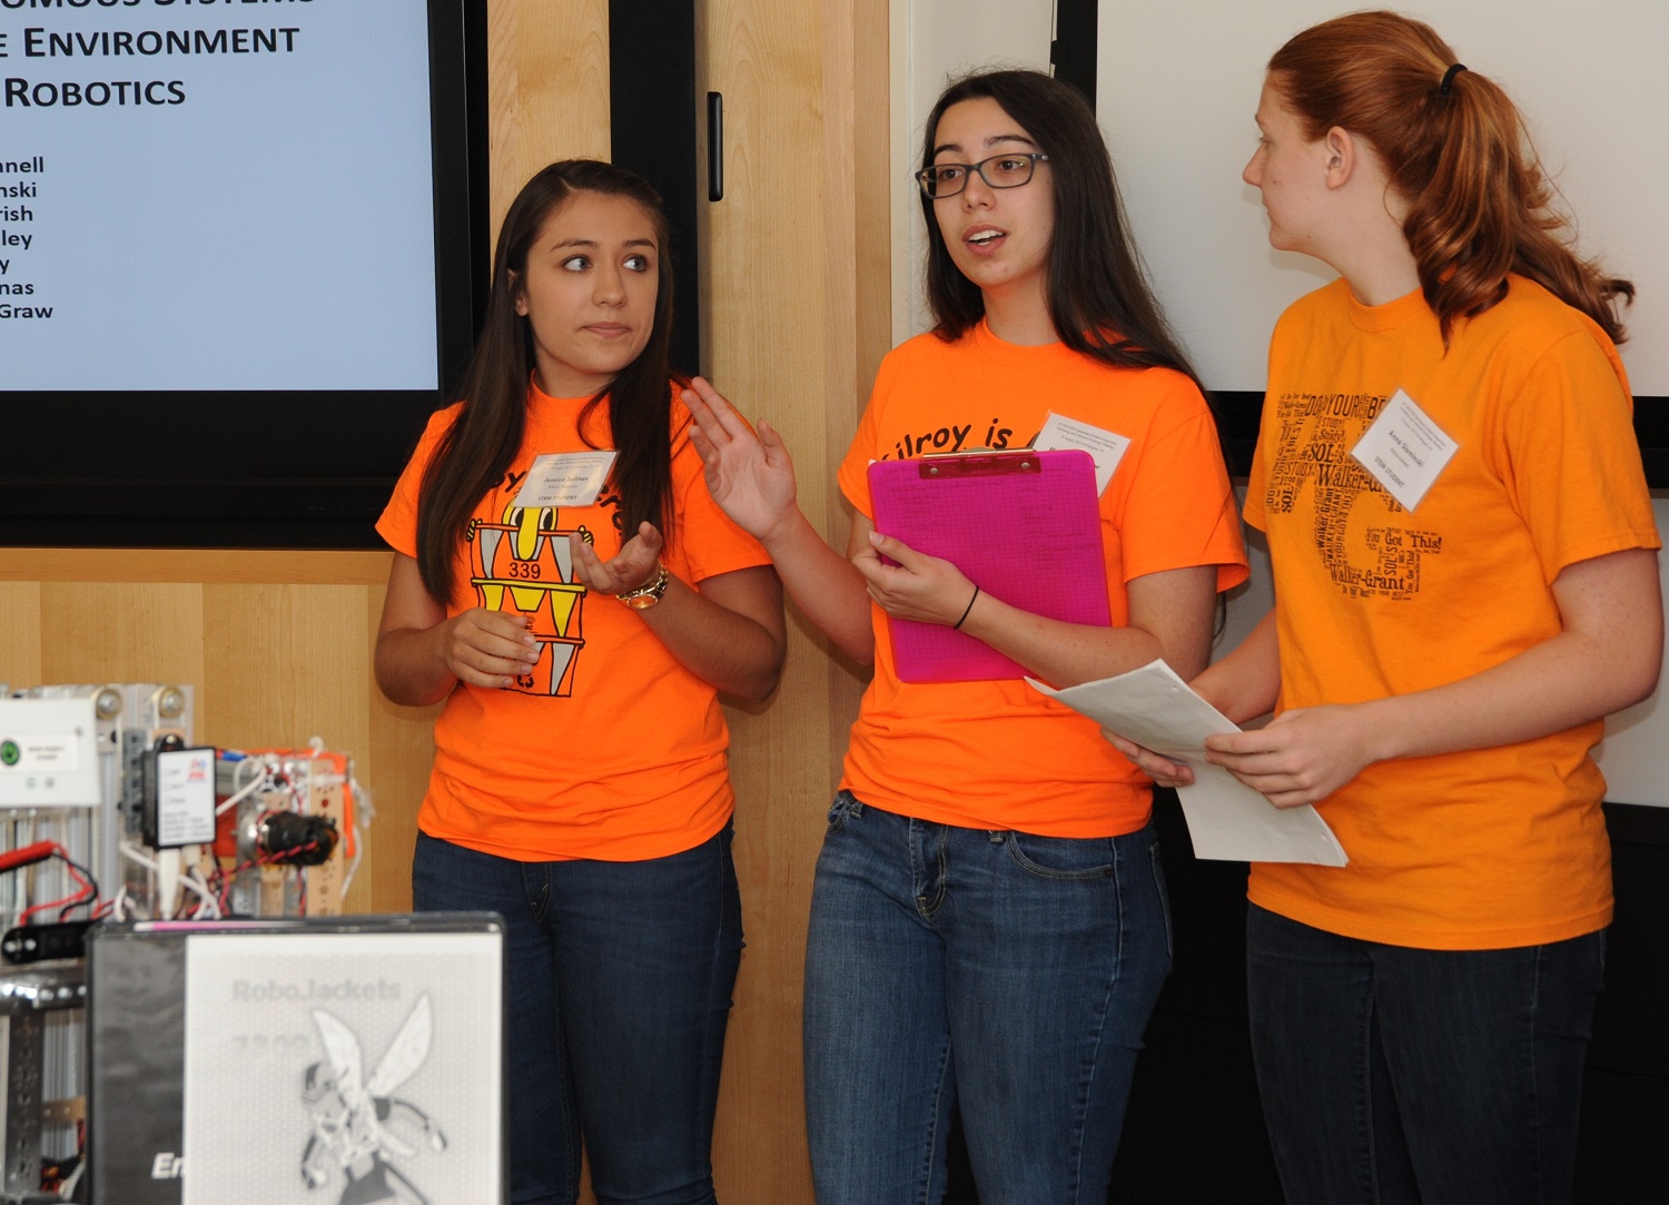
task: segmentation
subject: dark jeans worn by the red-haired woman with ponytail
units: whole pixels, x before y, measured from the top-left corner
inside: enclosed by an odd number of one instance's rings
[[[1412,950],[1253,905],[1252,1056],[1287,1200],[1569,1202],[1604,963],[1604,931]]]

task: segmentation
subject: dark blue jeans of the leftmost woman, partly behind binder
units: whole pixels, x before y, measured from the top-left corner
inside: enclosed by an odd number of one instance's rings
[[[419,911],[506,931],[511,1202],[713,1202],[713,1115],[741,898],[731,829],[648,861],[519,863],[419,834]]]

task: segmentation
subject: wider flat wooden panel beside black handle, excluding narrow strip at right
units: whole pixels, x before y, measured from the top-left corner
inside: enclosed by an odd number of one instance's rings
[[[828,312],[840,269],[824,239],[823,45],[814,5],[709,0],[706,88],[724,95],[724,200],[709,207],[703,325],[716,387],[768,419],[794,456],[808,516],[833,504]],[[793,97],[793,100],[789,100]],[[743,284],[744,282],[744,284]],[[811,876],[838,774],[838,669],[816,634],[789,628],[778,698],[733,713],[736,850],[748,950],[736,985],[714,1135],[726,1200],[809,1202],[799,1075],[799,986]],[[771,1152],[771,1158],[761,1158]]]

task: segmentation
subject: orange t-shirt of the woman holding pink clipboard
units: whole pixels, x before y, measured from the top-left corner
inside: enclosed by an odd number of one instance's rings
[[[1050,412],[1130,439],[1102,492],[1113,624],[1125,582],[1218,566],[1247,576],[1212,412],[1170,369],[1113,369],[1061,344],[1006,344],[985,322],[956,342],[918,335],[881,364],[840,467],[865,516],[870,461],[1025,447]],[[1100,728],[1023,681],[901,683],[886,616],[873,608],[875,678],[851,728],[843,786],[885,811],[1041,836],[1117,836],[1147,823],[1152,784]]]

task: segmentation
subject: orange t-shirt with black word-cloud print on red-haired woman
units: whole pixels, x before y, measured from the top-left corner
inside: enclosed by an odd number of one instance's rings
[[[1529,280],[1459,322],[1447,354],[1419,292],[1367,307],[1339,280],[1280,319],[1268,382],[1245,517],[1268,532],[1278,709],[1500,664],[1561,631],[1561,569],[1659,546],[1616,347]],[[1412,512],[1350,457],[1397,389],[1459,446]],[[1599,930],[1602,728],[1369,766],[1319,804],[1350,865],[1257,863],[1250,898],[1434,950]]]

